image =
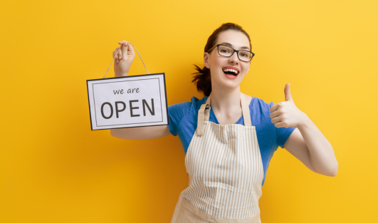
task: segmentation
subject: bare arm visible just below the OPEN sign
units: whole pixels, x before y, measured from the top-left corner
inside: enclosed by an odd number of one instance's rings
[[[124,140],[150,140],[170,135],[168,125],[115,128],[110,130],[110,135]]]

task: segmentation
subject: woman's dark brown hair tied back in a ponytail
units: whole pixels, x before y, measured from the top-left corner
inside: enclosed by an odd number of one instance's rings
[[[207,43],[206,43],[204,51],[205,52],[209,51],[209,49],[211,49],[211,47],[215,45],[218,39],[219,33],[223,31],[227,31],[227,30],[240,31],[246,34],[249,41],[249,47],[252,49],[251,38],[249,37],[248,33],[244,31],[243,28],[241,28],[241,26],[239,26],[238,24],[227,23],[227,24],[222,24],[219,28],[214,30],[211,36],[209,36],[209,38],[207,39]],[[195,64],[194,66],[196,67],[194,69],[196,69],[197,72],[193,73],[194,77],[193,77],[193,81],[191,82],[193,82],[194,85],[196,85],[197,90],[199,92],[203,92],[205,96],[209,96],[211,93],[210,69],[206,68],[206,66],[204,66],[203,69],[201,69],[199,66],[196,66]]]

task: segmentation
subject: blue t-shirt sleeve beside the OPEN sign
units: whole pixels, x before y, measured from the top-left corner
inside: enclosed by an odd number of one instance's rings
[[[184,115],[187,114],[187,112],[190,110],[190,107],[190,102],[177,103],[168,106],[168,128],[172,135],[177,135],[177,126],[179,126],[179,123]]]

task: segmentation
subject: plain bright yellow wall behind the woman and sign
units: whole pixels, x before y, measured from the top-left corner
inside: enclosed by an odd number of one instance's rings
[[[268,222],[377,219],[377,1],[1,1],[0,222],[169,222],[187,187],[178,137],[120,140],[90,130],[86,80],[121,40],[168,105],[191,83],[222,23],[250,34],[243,93],[295,104],[335,150],[336,177],[278,148],[260,200]],[[107,77],[114,76],[110,69]],[[145,74],[137,56],[130,75]]]

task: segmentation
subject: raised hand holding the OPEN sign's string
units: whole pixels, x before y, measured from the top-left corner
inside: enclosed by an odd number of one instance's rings
[[[120,44],[122,48],[118,51],[116,57],[115,53],[118,48],[115,48],[115,51],[113,51],[113,58],[115,57],[114,73],[115,77],[124,77],[129,74],[131,63],[135,58],[135,52],[131,44],[127,41],[120,41],[118,44]]]

